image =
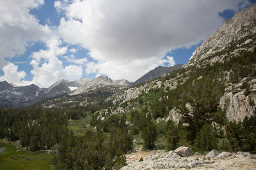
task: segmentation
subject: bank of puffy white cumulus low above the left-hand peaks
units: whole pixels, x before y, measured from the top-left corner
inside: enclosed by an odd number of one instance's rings
[[[18,71],[18,66],[13,63],[3,67],[4,75],[0,77],[0,81],[8,81],[15,85],[29,85],[34,83],[39,87],[49,87],[56,81],[67,79],[70,81],[79,80],[83,76],[83,68],[81,66],[69,65],[64,67],[58,57],[67,53],[67,46],[62,46],[62,42],[56,36],[45,39],[47,46],[46,50],[39,50],[31,54],[31,70],[32,80],[24,81],[26,73]],[[86,62],[86,59],[68,58],[70,62],[81,64]],[[79,63],[80,62],[80,63]]]

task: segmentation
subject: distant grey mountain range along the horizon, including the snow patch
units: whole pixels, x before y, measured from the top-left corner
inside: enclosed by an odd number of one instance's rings
[[[0,107],[8,108],[25,108],[33,104],[41,103],[54,97],[63,95],[76,96],[84,94],[92,90],[99,90],[106,87],[112,91],[114,89],[124,89],[124,87],[131,87],[149,81],[152,78],[163,76],[170,71],[179,69],[182,65],[177,64],[173,67],[156,67],[156,69],[148,72],[140,79],[131,83],[127,80],[111,80],[109,77],[99,76],[94,79],[82,79],[76,81],[60,80],[51,85],[49,88],[40,88],[34,84],[28,86],[18,87],[8,83],[7,81],[0,81]],[[110,92],[109,94],[112,94]]]

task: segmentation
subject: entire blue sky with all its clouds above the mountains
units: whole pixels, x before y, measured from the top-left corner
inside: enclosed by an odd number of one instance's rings
[[[0,81],[136,81],[185,64],[226,18],[256,0],[0,1]]]

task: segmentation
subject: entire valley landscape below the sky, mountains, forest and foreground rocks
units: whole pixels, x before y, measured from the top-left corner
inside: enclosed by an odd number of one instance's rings
[[[255,18],[256,3],[133,83],[1,81],[0,169],[254,169]]]

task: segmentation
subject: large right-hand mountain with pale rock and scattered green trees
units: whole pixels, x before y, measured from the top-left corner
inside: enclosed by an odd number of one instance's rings
[[[214,105],[215,110],[225,113],[228,121],[240,122],[246,116],[251,117],[256,112],[255,18],[256,3],[225,20],[218,31],[196,48],[193,57],[180,69],[117,92],[106,99],[106,102],[112,101],[115,110],[124,110],[124,113],[134,108],[142,110],[150,105],[149,111],[154,118],[164,117],[166,120],[179,122],[182,116],[180,108],[192,113],[196,108],[193,108],[195,103],[191,101],[200,99],[204,105],[215,98],[214,102],[218,103]],[[149,72],[145,77],[151,78],[151,74]],[[216,83],[216,87],[211,87],[209,81]],[[204,87],[207,82],[208,87]],[[195,85],[202,88],[196,89]],[[195,89],[198,92],[191,97]],[[201,96],[200,91],[206,89],[216,95],[212,94],[212,99],[207,98],[210,92]],[[184,105],[180,105],[181,101]],[[138,106],[138,103],[142,105]],[[115,113],[115,110],[111,112]]]

